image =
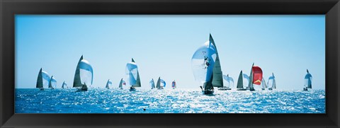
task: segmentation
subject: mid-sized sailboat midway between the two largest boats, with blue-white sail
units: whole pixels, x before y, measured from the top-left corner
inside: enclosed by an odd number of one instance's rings
[[[128,62],[126,64],[126,74],[128,75],[128,82],[130,84],[130,91],[136,91],[135,87],[141,87],[140,84],[140,73],[138,71],[137,64],[135,60]]]

